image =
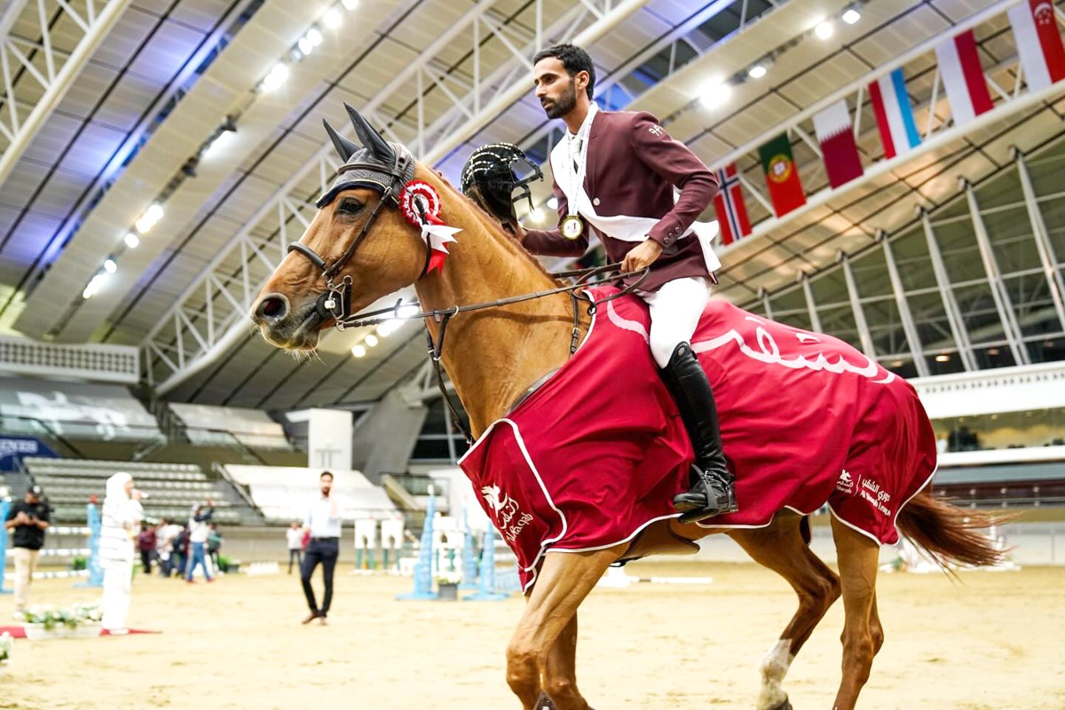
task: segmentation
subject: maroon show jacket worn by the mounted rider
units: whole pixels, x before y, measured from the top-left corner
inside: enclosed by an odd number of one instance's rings
[[[569,214],[569,202],[553,176],[558,217]],[[674,202],[673,187],[681,191]],[[681,238],[714,201],[718,181],[703,161],[673,139],[646,112],[600,111],[588,134],[585,192],[601,216],[654,217],[658,224],[649,236],[662,246],[640,288],[657,291],[667,281],[707,277],[702,246],[694,235]],[[579,257],[588,249],[591,225],[576,240],[552,230],[526,230],[522,245],[531,253]],[[607,260],[620,262],[639,242],[616,240],[596,230]]]

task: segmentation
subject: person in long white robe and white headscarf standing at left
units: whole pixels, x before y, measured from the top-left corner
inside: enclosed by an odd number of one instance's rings
[[[134,541],[144,517],[133,477],[119,472],[108,479],[100,526],[100,562],[103,567],[103,622],[109,633],[128,633],[133,581]]]

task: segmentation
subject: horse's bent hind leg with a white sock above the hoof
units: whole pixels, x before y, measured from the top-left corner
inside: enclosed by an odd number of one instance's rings
[[[814,628],[839,597],[839,578],[810,551],[800,530],[802,517],[780,515],[766,528],[728,534],[751,558],[788,580],[799,595],[799,609],[780,641],[761,661],[758,710],[790,708],[784,676]]]

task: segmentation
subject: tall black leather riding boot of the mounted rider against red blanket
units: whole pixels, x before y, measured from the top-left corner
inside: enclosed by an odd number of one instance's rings
[[[681,418],[695,449],[691,466],[691,490],[673,498],[673,507],[684,513],[682,523],[695,523],[721,513],[734,513],[736,494],[733,475],[721,449],[718,408],[714,391],[695,352],[688,343],[673,349],[662,379],[676,400]]]

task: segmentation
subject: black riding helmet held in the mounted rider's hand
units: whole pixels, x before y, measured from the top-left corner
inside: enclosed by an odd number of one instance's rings
[[[519,178],[519,171],[525,177]],[[540,166],[509,143],[491,143],[473,151],[462,166],[462,193],[480,204],[501,222],[517,220],[514,202],[532,197],[528,183],[543,180]],[[514,189],[522,192],[514,197]]]

